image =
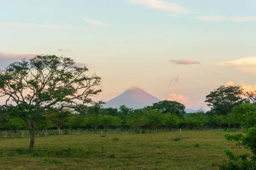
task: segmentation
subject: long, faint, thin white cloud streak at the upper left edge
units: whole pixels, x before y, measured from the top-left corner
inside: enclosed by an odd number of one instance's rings
[[[0,23],[0,27],[5,28],[64,28],[64,29],[70,29],[73,28],[73,26],[69,25],[60,25],[60,24],[51,24],[51,23],[45,23],[45,24],[37,24],[37,23],[18,23],[18,22],[3,22]]]

